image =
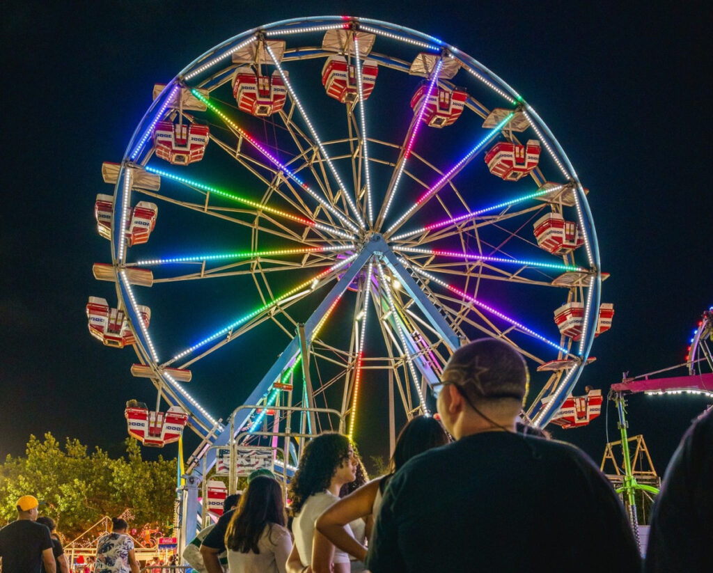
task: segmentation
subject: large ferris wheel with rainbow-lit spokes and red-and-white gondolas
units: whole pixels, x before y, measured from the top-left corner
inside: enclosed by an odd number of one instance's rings
[[[155,411],[127,408],[155,445],[184,425],[206,445],[266,428],[393,443],[483,336],[528,361],[525,414],[543,426],[611,326],[588,190],[554,135],[488,68],[402,26],[240,33],[154,87],[102,172],[111,264],[94,274],[118,301],[92,297],[89,328],[133,345],[131,373],[158,388]],[[226,378],[244,397],[222,400],[230,431],[200,400]]]

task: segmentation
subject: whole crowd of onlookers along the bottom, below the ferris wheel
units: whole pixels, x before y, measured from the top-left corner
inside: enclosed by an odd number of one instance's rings
[[[493,339],[458,349],[434,388],[438,419],[401,430],[389,473],[369,481],[347,436],[304,448],[285,492],[258,470],[183,553],[200,573],[697,572],[713,541],[713,410],[672,458],[645,562],[622,503],[587,455],[519,418],[522,356]],[[0,530],[4,573],[68,573],[36,498]],[[93,573],[138,573],[124,520],[98,541]]]

